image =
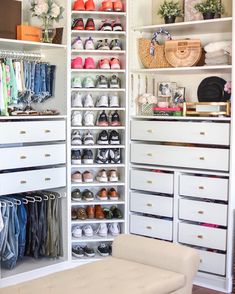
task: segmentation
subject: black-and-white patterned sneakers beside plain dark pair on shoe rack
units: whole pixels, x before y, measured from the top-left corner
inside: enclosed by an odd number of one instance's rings
[[[107,149],[107,148],[100,148],[98,149],[98,154],[96,156],[96,163],[99,164],[119,164],[121,163],[121,152],[120,149]]]

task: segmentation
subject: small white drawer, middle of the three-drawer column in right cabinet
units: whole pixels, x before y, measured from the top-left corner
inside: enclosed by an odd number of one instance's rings
[[[171,197],[131,192],[130,210],[133,212],[173,217],[173,199]]]

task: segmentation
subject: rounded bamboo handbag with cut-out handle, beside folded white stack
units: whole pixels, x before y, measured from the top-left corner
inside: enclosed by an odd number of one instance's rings
[[[171,40],[165,43],[165,57],[173,67],[189,67],[202,55],[200,40]]]

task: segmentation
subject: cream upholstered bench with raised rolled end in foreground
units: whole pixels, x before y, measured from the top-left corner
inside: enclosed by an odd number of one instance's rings
[[[120,235],[102,261],[0,289],[1,294],[190,294],[199,265],[196,250]]]

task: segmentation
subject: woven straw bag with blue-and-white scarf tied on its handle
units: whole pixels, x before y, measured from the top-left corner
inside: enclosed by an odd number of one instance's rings
[[[165,45],[158,43],[157,38],[159,35],[164,35],[168,40],[171,40],[170,33],[163,29],[155,32],[152,40],[146,38],[138,40],[139,57],[145,68],[171,67],[165,57]]]

